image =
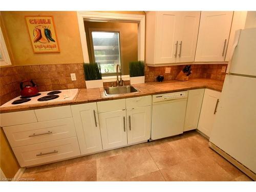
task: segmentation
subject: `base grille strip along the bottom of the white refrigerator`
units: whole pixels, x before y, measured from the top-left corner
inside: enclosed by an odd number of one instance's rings
[[[224,157],[226,160],[228,160],[230,163],[232,163],[234,166],[238,167],[244,174],[246,174],[248,177],[250,177],[252,180],[256,181],[256,174],[252,172],[249,168],[244,166],[242,163],[237,161],[236,159],[232,158],[230,155],[228,155],[226,152],[222,151],[218,146],[216,146],[214,143],[209,142],[209,146],[212,148],[212,150],[216,151],[218,154],[220,154],[222,157]]]

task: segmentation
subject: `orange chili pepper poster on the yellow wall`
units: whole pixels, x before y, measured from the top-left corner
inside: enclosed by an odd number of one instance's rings
[[[25,18],[34,53],[60,52],[52,16],[25,16]]]

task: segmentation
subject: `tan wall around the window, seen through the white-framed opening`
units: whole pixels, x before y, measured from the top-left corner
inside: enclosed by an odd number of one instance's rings
[[[92,62],[89,29],[119,30],[122,74],[129,75],[129,62],[138,60],[138,24],[121,22],[84,22],[87,33],[87,45]]]

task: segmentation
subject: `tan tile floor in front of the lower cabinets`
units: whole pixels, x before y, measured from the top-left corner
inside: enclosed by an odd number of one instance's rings
[[[35,181],[251,181],[196,131],[27,168]]]

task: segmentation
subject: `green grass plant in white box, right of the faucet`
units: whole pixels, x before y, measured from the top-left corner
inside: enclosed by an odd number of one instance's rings
[[[145,82],[144,76],[144,62],[132,61],[130,62],[130,83],[139,84]]]

